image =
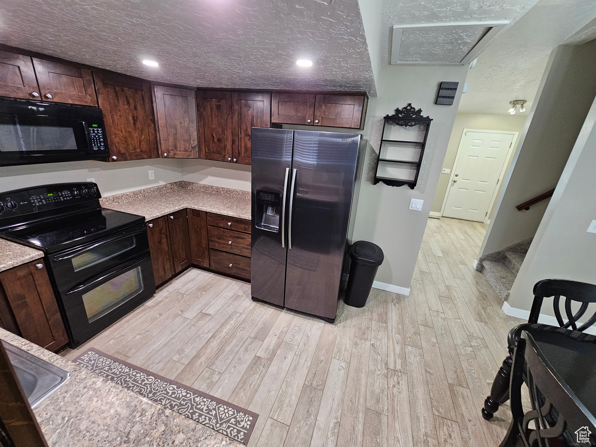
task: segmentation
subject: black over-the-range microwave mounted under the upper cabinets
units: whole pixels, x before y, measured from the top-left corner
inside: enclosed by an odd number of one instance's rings
[[[0,98],[0,166],[107,157],[100,108]]]

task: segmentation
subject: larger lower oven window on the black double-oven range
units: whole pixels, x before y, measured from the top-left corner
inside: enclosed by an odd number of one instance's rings
[[[141,267],[124,272],[107,283],[89,290],[82,296],[89,322],[92,323],[113,311],[142,291]]]

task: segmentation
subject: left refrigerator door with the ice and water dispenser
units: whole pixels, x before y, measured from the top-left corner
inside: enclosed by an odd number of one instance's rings
[[[285,228],[269,231],[258,228],[257,216],[263,216],[263,210],[257,207],[265,205],[257,203],[256,192],[280,194],[285,203],[284,185],[286,172],[292,164],[292,134],[284,129],[252,129],[252,235],[250,259],[251,295],[257,299],[284,305],[285,282]],[[286,181],[287,184],[287,181]],[[260,211],[260,212],[259,212]],[[265,211],[266,212],[266,211]],[[287,209],[284,210],[287,213]],[[280,222],[287,218],[280,213]],[[282,231],[283,230],[283,231]]]

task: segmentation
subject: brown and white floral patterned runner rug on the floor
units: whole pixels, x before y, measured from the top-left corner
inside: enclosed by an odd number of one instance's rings
[[[95,348],[79,356],[76,363],[245,445],[249,443],[254,423],[259,417],[252,411],[143,370]]]

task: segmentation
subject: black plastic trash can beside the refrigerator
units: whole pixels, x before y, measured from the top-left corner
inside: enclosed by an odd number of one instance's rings
[[[347,280],[345,302],[354,308],[364,308],[373,287],[378,266],[383,263],[383,250],[368,241],[357,241],[350,246],[350,277]]]

